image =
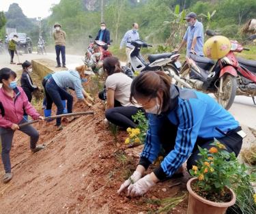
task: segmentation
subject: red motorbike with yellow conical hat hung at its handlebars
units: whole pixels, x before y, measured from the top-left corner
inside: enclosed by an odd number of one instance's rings
[[[206,34],[216,35],[211,30],[206,31]],[[253,87],[255,85],[252,84],[256,82],[256,76],[248,71],[249,67],[253,70],[252,67],[253,65],[256,66],[256,63],[243,61],[247,63],[246,66],[249,66],[245,70],[246,67],[241,67],[234,54],[234,52],[242,52],[242,50],[248,50],[248,48],[242,47],[237,41],[231,40],[230,42],[231,50],[222,59],[213,61],[207,57],[199,57],[190,53],[180,70],[180,78],[187,82],[190,87],[204,93],[214,93],[218,103],[227,110],[233,104],[236,95],[246,94],[246,89],[250,89],[247,90],[247,92],[250,91],[248,95],[254,96]],[[182,87],[182,85],[179,86]],[[240,93],[238,93],[239,91]]]

